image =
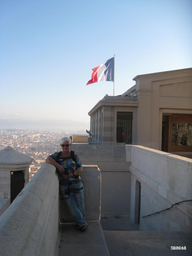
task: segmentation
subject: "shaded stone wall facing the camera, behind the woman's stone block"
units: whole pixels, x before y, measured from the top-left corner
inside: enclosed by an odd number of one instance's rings
[[[101,217],[129,216],[131,151],[125,145],[72,144],[84,165],[97,165],[101,172]],[[83,172],[82,172],[83,175]]]

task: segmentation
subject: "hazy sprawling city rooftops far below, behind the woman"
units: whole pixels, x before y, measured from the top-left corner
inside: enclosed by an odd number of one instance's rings
[[[60,139],[72,133],[87,134],[86,131],[48,131],[45,129],[0,128],[0,150],[10,146],[20,153],[32,157],[29,180],[53,152],[60,151]]]

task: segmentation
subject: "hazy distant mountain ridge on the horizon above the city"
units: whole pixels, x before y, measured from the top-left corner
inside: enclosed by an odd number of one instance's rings
[[[41,128],[63,130],[89,130],[90,123],[71,120],[24,120],[24,119],[0,119],[0,125],[4,128]]]

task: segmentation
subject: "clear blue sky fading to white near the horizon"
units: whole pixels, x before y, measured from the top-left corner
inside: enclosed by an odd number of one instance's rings
[[[115,54],[115,95],[138,74],[191,67],[192,1],[0,1],[0,118],[89,122],[113,82],[86,86]]]

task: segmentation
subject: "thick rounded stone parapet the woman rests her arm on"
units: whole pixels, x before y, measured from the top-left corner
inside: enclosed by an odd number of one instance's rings
[[[45,163],[0,217],[0,255],[55,255],[58,211],[58,175]]]

